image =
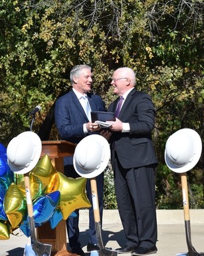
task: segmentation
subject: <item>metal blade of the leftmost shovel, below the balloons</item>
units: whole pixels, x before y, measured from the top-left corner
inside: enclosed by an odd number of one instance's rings
[[[25,245],[24,256],[51,256],[52,245],[39,243],[39,245]]]

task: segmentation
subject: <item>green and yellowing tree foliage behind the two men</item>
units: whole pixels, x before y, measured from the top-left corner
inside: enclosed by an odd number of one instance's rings
[[[93,91],[106,106],[116,97],[110,85],[114,69],[132,67],[137,89],[152,96],[157,113],[157,205],[180,207],[177,175],[166,170],[163,152],[177,129],[189,127],[204,137],[203,15],[201,0],[1,1],[1,143],[29,129],[36,105],[42,111],[33,130],[39,131],[56,97],[70,89],[74,65],[92,66]],[[51,139],[57,138],[53,127]],[[192,207],[203,205],[195,193],[201,194],[202,179],[203,173],[193,179]],[[171,194],[165,193],[168,184]]]

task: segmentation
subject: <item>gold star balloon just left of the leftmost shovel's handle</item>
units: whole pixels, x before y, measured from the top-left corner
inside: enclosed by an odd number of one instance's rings
[[[14,183],[7,189],[3,205],[11,227],[15,229],[27,214],[27,203],[25,195]]]

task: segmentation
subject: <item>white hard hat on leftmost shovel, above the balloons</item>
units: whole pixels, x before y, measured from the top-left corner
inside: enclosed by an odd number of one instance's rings
[[[11,171],[18,174],[28,173],[37,165],[41,151],[41,139],[36,133],[20,133],[7,146],[7,162]]]

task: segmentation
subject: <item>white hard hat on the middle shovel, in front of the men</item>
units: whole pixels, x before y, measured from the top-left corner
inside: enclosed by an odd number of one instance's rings
[[[89,135],[76,145],[73,157],[74,169],[82,177],[96,177],[106,169],[109,159],[108,141],[101,135]]]

